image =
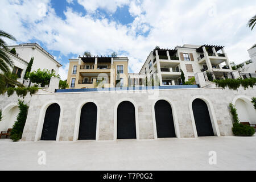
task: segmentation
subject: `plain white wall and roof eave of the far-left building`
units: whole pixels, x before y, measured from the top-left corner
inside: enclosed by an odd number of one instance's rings
[[[37,71],[39,68],[48,69],[49,71],[54,70],[59,73],[59,68],[62,66],[58,63],[54,57],[49,54],[46,50],[40,47],[36,43],[19,44],[18,46],[9,46],[9,49],[16,49],[16,54],[28,63],[31,57],[34,57],[31,71]],[[24,70],[24,72],[26,69]]]

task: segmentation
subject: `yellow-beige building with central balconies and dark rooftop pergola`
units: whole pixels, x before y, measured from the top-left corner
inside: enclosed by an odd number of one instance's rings
[[[128,81],[127,57],[80,57],[69,60],[69,88],[126,87]]]

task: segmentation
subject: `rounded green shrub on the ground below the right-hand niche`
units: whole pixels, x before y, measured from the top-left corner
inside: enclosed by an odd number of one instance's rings
[[[233,134],[236,136],[251,137],[254,135],[255,130],[249,125],[243,125],[241,123],[234,123],[232,128]]]

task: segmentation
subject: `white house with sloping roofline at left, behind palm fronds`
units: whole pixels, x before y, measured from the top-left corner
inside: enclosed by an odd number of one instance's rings
[[[19,73],[19,78],[23,78],[27,63],[30,62],[31,57],[34,57],[34,61],[32,64],[31,71],[36,71],[39,68],[40,69],[48,69],[49,71],[55,71],[57,74],[59,73],[59,68],[62,66],[58,61],[54,59],[54,57],[47,52],[45,49],[43,49],[39,44],[37,43],[25,43],[25,44],[19,44],[16,46],[8,46],[9,49],[15,48],[16,55],[11,55],[11,57],[15,57],[13,59],[14,61],[14,73]],[[24,60],[26,61],[26,67],[21,66],[18,64],[16,59]],[[23,61],[23,62],[24,62]]]

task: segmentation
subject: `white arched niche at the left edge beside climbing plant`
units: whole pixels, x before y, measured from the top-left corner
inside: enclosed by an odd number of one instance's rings
[[[17,116],[19,114],[19,107],[17,105],[11,105],[3,110],[2,121],[0,122],[0,132],[12,129]]]

